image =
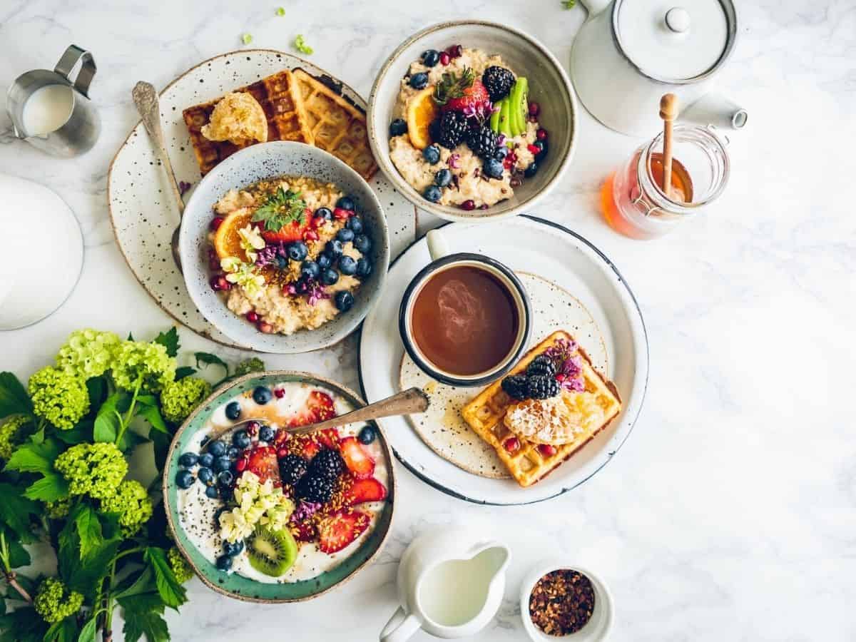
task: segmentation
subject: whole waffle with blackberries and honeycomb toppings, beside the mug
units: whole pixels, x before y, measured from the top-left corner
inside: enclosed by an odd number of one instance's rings
[[[529,486],[591,441],[620,411],[615,383],[591,366],[573,336],[557,331],[461,414],[517,483]]]

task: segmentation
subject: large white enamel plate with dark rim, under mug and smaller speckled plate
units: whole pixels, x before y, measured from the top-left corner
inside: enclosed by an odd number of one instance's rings
[[[444,460],[423,443],[407,419],[382,419],[395,456],[419,479],[469,502],[512,505],[562,495],[597,473],[633,429],[648,383],[648,339],[642,313],[621,273],[597,247],[556,223],[516,217],[497,223],[451,223],[443,228],[451,252],[475,252],[513,270],[532,272],[580,300],[603,336],[607,377],[621,393],[621,413],[579,452],[529,488],[513,479],[489,479]],[[416,241],[389,267],[383,296],[366,317],[360,336],[360,385],[371,403],[399,389],[404,346],[398,308],[407,283],[430,261],[425,239]],[[543,336],[532,336],[532,343]],[[473,389],[473,396],[480,388]]]

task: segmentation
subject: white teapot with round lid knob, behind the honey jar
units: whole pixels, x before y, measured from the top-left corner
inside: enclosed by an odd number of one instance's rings
[[[589,17],[571,51],[571,79],[591,115],[622,134],[663,127],[657,105],[675,93],[678,118],[739,129],[746,110],[710,92],[734,51],[732,0],[582,0]]]

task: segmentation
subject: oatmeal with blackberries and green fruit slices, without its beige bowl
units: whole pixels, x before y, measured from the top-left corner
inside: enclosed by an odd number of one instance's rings
[[[431,203],[473,210],[510,199],[547,150],[528,91],[500,56],[425,51],[401,79],[389,158]]]

